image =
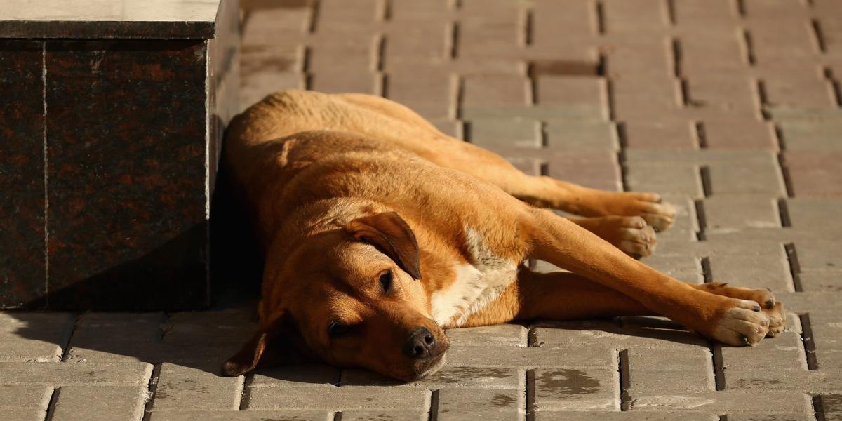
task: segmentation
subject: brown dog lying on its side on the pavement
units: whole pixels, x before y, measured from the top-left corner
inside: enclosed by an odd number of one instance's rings
[[[409,381],[444,364],[443,328],[534,317],[658,314],[733,345],[783,329],[767,290],[685,284],[626,254],[672,224],[658,195],[526,175],[386,99],[275,93],[232,121],[224,159],[266,262],[261,328],[226,376],[306,355]]]

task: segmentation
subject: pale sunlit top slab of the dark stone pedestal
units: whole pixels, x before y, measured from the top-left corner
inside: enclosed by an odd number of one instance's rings
[[[221,0],[0,0],[0,38],[210,39]]]

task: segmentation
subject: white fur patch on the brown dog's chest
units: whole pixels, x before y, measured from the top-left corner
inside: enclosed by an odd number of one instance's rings
[[[473,228],[465,230],[469,263],[454,264],[454,281],[445,290],[433,293],[433,320],[449,328],[459,327],[468,317],[497,300],[517,279],[517,264],[491,253],[482,236]]]

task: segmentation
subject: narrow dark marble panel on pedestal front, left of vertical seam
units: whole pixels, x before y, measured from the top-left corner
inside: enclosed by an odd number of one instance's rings
[[[11,306],[46,287],[43,48],[0,40],[0,302]]]

